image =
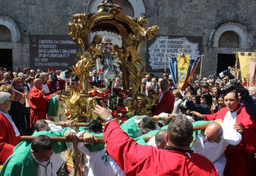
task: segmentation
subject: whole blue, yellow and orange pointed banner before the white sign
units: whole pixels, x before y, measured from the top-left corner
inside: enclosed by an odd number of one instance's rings
[[[179,90],[183,91],[195,73],[202,56],[185,54],[185,57],[181,57],[180,54],[172,53],[167,55],[172,81]]]

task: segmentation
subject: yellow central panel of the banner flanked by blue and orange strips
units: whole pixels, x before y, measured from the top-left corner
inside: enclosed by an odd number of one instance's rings
[[[183,84],[185,83],[186,75],[189,68],[189,58],[190,54],[185,54],[186,57],[181,57],[180,54],[177,56],[177,83],[176,86],[181,90]]]

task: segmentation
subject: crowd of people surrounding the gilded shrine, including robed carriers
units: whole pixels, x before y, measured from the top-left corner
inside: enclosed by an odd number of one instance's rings
[[[89,76],[90,88],[100,87],[98,71]],[[104,130],[93,120],[76,133],[51,121],[65,121],[60,91],[78,81],[71,70],[0,71],[0,176],[26,175],[29,164],[39,167],[35,175],[56,174],[63,163],[58,153],[76,147],[54,145],[47,136],[84,137],[85,143],[77,147],[87,155],[88,175],[253,175],[256,86],[245,88],[239,80],[211,74],[202,79],[196,75],[181,91],[171,75],[146,73],[143,92],[159,94],[152,115],[175,118],[166,124],[134,116],[119,126],[101,101],[94,112],[105,121]],[[122,81],[121,73],[113,87],[122,89]],[[196,125],[208,123],[205,130],[193,132]],[[38,136],[32,143],[20,142],[21,136],[32,134]],[[149,142],[141,143],[151,135]],[[98,136],[104,136],[105,149],[95,143]]]

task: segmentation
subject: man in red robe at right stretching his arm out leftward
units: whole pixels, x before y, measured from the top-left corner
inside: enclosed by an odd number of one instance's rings
[[[236,147],[229,146],[225,154],[227,158],[224,175],[252,176],[254,169],[254,152],[256,151],[256,122],[247,114],[245,107],[240,105],[238,94],[234,91],[224,97],[226,107],[215,114],[202,115],[192,112],[204,120],[222,119],[233,128],[243,129],[242,140]]]

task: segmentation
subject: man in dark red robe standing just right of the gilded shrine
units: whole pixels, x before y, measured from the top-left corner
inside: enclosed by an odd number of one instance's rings
[[[160,82],[161,93],[157,100],[157,105],[152,107],[154,116],[158,116],[161,113],[171,114],[174,106],[175,97],[171,91],[169,91],[168,81],[163,79]]]

